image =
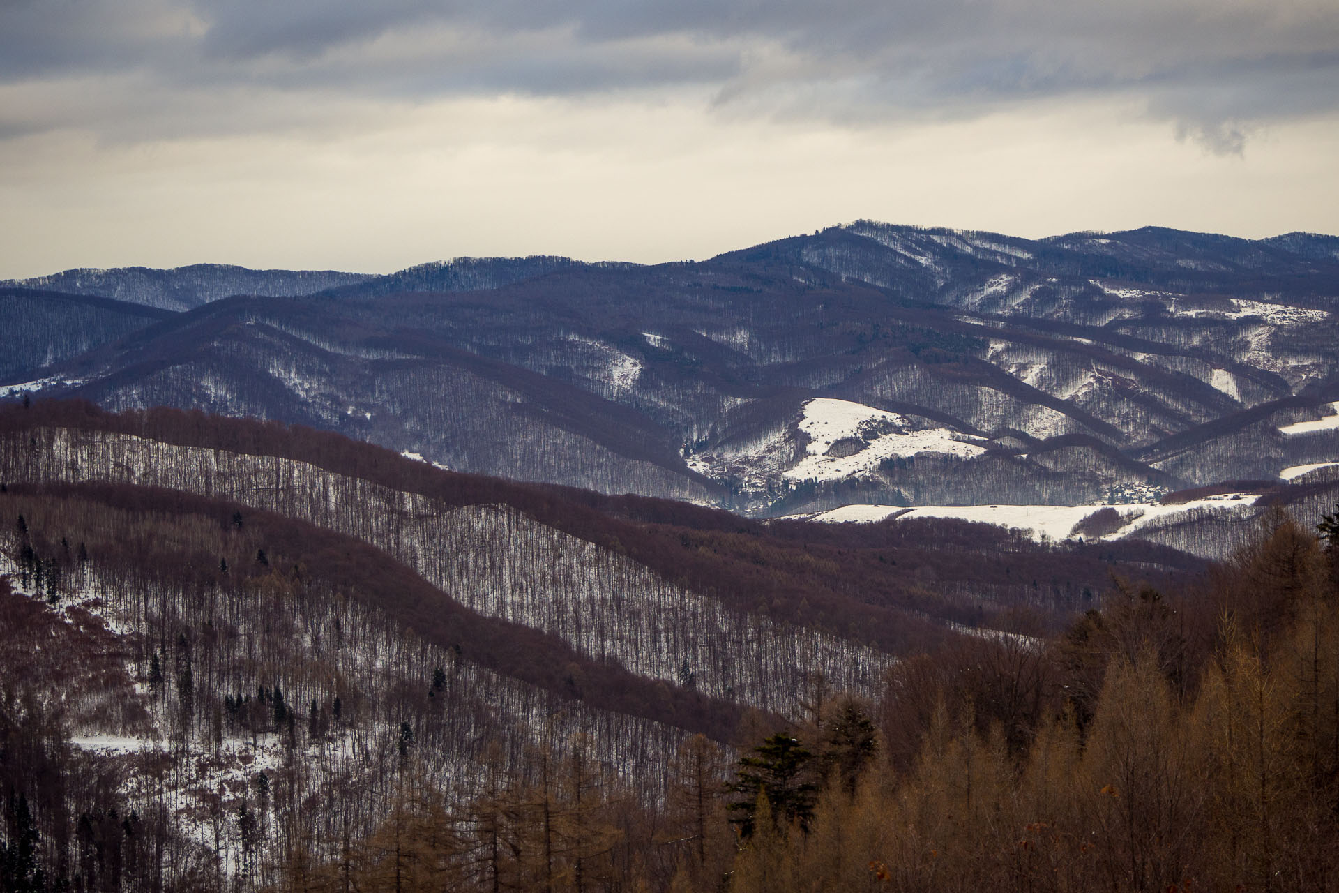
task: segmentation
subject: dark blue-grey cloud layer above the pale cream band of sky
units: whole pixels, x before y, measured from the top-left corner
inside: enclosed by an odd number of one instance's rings
[[[1016,102],[1142,102],[1232,151],[1260,122],[1339,104],[1331,0],[3,0],[0,79],[122,78],[195,102],[229,88],[360,98],[589,95],[699,86],[718,107],[844,123]],[[0,127],[170,135],[143,102],[52,96]],[[187,106],[190,103],[186,103]],[[221,108],[228,103],[221,100]],[[224,108],[226,111],[226,108]],[[82,118],[80,115],[88,115]],[[189,115],[187,115],[189,116]],[[91,118],[91,119],[90,119]],[[245,115],[237,122],[245,127]],[[98,122],[103,120],[103,125]],[[228,114],[213,118],[228,127]]]

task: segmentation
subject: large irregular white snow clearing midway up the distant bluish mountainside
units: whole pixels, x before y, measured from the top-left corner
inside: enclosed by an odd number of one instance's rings
[[[864,403],[814,398],[803,406],[799,430],[809,436],[807,455],[782,477],[790,481],[834,481],[874,469],[884,459],[939,453],[968,458],[986,451],[957,439],[951,428],[916,431],[905,415],[876,410]],[[849,440],[857,453],[828,455],[838,440]]]

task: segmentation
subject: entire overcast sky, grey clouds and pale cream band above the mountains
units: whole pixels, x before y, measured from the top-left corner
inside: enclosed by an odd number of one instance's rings
[[[1339,0],[0,0],[0,277],[1339,233]]]

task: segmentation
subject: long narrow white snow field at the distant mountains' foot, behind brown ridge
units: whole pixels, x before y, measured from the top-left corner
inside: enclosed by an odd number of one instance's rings
[[[882,521],[890,515],[897,515],[898,521],[907,518],[959,518],[961,521],[976,521],[980,523],[994,523],[1000,527],[1016,530],[1031,530],[1035,540],[1065,540],[1083,518],[1102,509],[1115,509],[1122,515],[1131,517],[1123,527],[1111,534],[1110,540],[1129,536],[1150,522],[1161,521],[1169,515],[1182,514],[1193,509],[1227,507],[1243,499],[1253,501],[1253,494],[1224,493],[1220,495],[1193,499],[1180,505],[1162,505],[1161,502],[1144,503],[1101,503],[1086,506],[1040,506],[1040,505],[980,505],[980,506],[916,506],[907,509],[902,506],[877,505],[849,505],[840,509],[819,511],[807,517],[811,521],[830,523],[846,522],[873,522]]]

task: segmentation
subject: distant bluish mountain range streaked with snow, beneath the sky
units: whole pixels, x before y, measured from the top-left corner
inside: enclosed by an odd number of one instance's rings
[[[656,266],[75,272],[0,293],[35,320],[0,387],[758,515],[1146,505],[1339,462],[1336,244],[860,221]]]

